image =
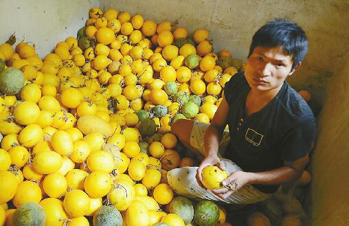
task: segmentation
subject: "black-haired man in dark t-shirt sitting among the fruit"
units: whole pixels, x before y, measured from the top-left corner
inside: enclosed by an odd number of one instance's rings
[[[172,133],[185,146],[205,157],[197,170],[168,172],[177,193],[256,203],[267,199],[280,184],[301,177],[313,148],[316,120],[285,80],[300,68],[307,49],[306,34],[296,23],[276,19],[260,27],[252,38],[245,73],[225,84],[223,101],[210,125],[191,120],[172,125]],[[224,131],[226,124],[229,133]],[[199,186],[206,166],[228,172],[224,188],[206,191]]]

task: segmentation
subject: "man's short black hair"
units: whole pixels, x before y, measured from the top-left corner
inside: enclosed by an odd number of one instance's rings
[[[300,25],[286,19],[274,19],[254,34],[249,47],[249,56],[256,47],[273,48],[282,46],[292,56],[292,69],[302,62],[308,52],[308,38]]]

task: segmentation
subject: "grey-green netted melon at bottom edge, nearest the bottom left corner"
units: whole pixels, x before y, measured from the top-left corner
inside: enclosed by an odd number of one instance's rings
[[[13,214],[13,226],[44,226],[46,214],[38,203],[24,203],[20,205]]]

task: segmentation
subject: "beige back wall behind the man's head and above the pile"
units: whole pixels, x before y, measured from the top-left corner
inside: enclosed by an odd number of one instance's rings
[[[178,21],[190,32],[205,27],[215,51],[229,49],[238,58],[246,58],[251,36],[261,25],[276,17],[291,19],[304,28],[310,46],[304,66],[289,82],[296,89],[309,89],[317,102],[324,99],[328,78],[349,50],[347,0],[101,0],[100,5],[157,23]]]

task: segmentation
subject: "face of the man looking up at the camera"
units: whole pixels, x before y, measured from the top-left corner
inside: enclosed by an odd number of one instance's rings
[[[245,77],[251,89],[269,91],[280,87],[291,71],[292,56],[282,47],[256,47],[247,59]]]

